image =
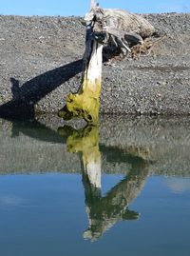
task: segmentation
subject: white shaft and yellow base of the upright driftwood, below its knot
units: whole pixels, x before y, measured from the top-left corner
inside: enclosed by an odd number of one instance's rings
[[[103,45],[92,40],[92,51],[83,74],[82,87],[76,94],[68,94],[66,106],[58,115],[66,120],[82,117],[87,124],[97,126],[99,123],[100,93],[102,82]]]

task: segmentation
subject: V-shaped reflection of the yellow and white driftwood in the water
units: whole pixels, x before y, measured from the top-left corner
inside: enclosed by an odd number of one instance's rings
[[[104,231],[121,220],[136,220],[139,213],[128,208],[128,205],[141,192],[148,174],[148,150],[131,148],[127,151],[132,167],[128,175],[106,196],[101,193],[101,153],[99,149],[99,128],[85,127],[79,130],[64,127],[58,133],[66,139],[69,152],[79,152],[82,162],[82,176],[85,189],[85,207],[89,226],[84,238],[95,241]],[[145,159],[142,158],[142,151]],[[138,152],[139,155],[138,156]],[[144,153],[145,152],[145,153]],[[133,161],[133,158],[135,160]]]

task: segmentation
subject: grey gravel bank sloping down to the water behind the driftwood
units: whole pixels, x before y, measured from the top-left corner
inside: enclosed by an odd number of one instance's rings
[[[101,112],[190,113],[190,13],[144,15],[163,36],[151,54],[104,65]],[[0,114],[57,112],[80,86],[81,17],[0,16]],[[21,108],[20,108],[21,107]]]

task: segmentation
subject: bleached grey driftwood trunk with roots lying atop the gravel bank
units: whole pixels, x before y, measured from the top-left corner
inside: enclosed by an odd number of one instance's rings
[[[95,6],[85,14],[85,21],[90,22],[94,18],[102,25],[107,37],[106,44],[120,48],[123,55],[155,32],[154,27],[142,15],[127,10],[101,9]]]

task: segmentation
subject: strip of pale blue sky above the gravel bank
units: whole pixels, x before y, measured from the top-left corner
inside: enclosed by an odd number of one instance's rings
[[[190,12],[190,0],[99,0],[103,8],[133,12]],[[84,15],[90,0],[0,0],[0,14]]]

